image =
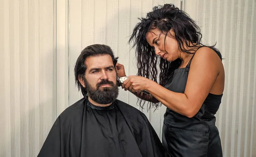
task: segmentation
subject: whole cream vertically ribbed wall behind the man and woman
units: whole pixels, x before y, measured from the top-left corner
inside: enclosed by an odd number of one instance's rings
[[[73,67],[84,47],[111,46],[137,73],[127,44],[137,18],[163,3],[180,4],[220,49],[226,72],[216,114],[225,157],[256,156],[255,0],[1,0],[0,157],[35,157],[58,116],[81,98]],[[120,88],[119,99],[137,98]],[[166,107],[144,112],[161,136]]]

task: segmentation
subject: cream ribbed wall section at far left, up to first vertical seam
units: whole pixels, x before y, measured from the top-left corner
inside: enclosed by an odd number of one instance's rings
[[[35,157],[55,120],[54,4],[1,2],[0,157]]]

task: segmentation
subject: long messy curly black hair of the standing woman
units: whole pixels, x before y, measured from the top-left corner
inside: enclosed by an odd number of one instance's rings
[[[180,66],[181,60],[178,58],[177,60],[168,62],[157,56],[154,52],[154,47],[151,47],[147,43],[146,34],[148,31],[159,29],[161,34],[165,34],[166,39],[167,32],[173,29],[175,32],[174,38],[177,40],[179,49],[188,54],[193,54],[197,50],[194,48],[198,46],[205,46],[201,43],[201,30],[195,21],[173,4],[155,6],[153,11],[147,14],[146,18],[139,18],[139,20],[140,23],[137,23],[128,41],[129,44],[134,42],[132,47],[136,48],[137,75],[157,82],[157,69],[159,67],[159,84],[161,86],[164,86],[172,78],[173,72]],[[185,49],[184,44],[189,49],[193,48],[194,52],[191,53],[191,50]],[[208,47],[213,48],[213,46]],[[143,108],[145,101],[141,99],[138,101],[140,101],[140,106]],[[151,106],[156,109],[159,105],[160,103],[149,102],[147,109],[149,110]]]

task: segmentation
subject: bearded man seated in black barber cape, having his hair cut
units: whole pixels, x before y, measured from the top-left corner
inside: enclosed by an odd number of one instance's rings
[[[84,98],[53,124],[38,157],[164,157],[163,146],[145,114],[120,101],[113,51],[91,45],[74,69]]]

